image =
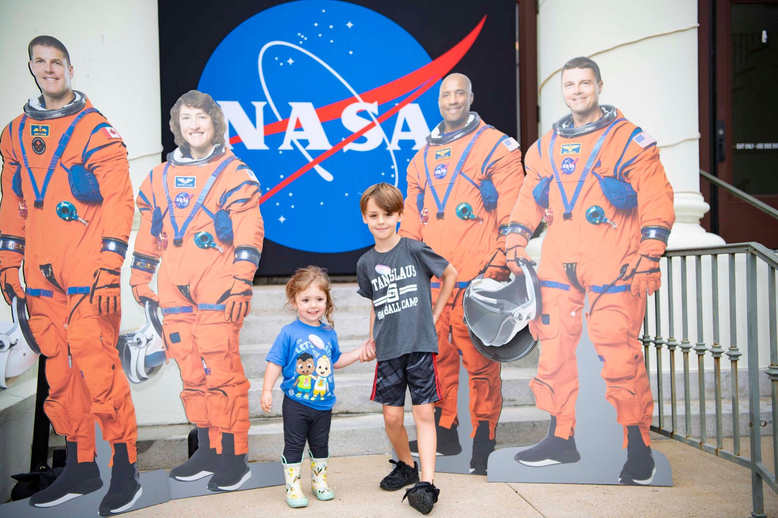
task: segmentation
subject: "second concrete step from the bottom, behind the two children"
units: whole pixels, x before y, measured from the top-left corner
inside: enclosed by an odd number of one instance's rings
[[[373,363],[374,365],[374,363]],[[503,408],[520,405],[534,405],[534,395],[529,388],[529,381],[534,371],[531,369],[506,369],[501,373],[503,378]],[[380,412],[381,406],[370,401],[370,393],[373,391],[373,373],[337,373],[335,374],[335,394],[337,401],[332,411],[339,414],[366,414]],[[263,379],[253,379],[248,393],[249,417],[280,417],[283,398],[280,388],[280,380],[276,381],[273,388],[272,411],[268,414],[262,411],[260,398],[262,395]],[[463,389],[460,389],[461,391]],[[467,393],[467,388],[464,388]],[[411,396],[406,392],[405,411],[411,411]]]

